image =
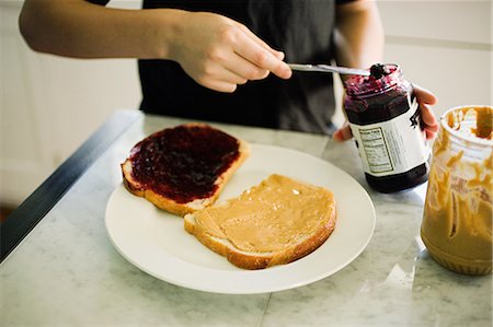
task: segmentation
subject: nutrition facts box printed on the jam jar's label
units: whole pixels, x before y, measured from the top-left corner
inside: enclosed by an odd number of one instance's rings
[[[381,127],[360,129],[362,145],[365,149],[366,160],[372,173],[392,172],[389,148]]]

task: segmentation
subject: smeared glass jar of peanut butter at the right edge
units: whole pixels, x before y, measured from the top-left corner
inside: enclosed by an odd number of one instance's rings
[[[460,273],[492,271],[492,113],[451,108],[433,145],[421,237],[438,264]]]

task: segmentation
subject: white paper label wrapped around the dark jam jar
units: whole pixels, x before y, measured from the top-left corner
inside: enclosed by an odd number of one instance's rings
[[[429,149],[420,127],[419,105],[413,98],[410,108],[391,120],[351,124],[363,168],[376,177],[405,173],[427,161]]]

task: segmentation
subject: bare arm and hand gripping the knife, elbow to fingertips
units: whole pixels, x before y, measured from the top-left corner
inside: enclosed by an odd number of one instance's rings
[[[246,26],[210,12],[25,0],[19,22],[34,50],[76,58],[170,59],[200,85],[220,92],[270,72],[291,75],[283,52]]]

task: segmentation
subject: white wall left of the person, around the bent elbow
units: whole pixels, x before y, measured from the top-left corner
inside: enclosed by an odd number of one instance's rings
[[[20,203],[115,109],[140,102],[136,60],[33,52],[21,8],[0,0],[0,205]]]

